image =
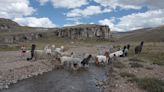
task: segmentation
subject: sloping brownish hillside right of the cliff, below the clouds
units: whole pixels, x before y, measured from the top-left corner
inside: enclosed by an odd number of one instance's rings
[[[119,37],[118,37],[119,34]],[[116,33],[115,33],[116,35]],[[164,26],[117,33],[119,41],[164,41]]]

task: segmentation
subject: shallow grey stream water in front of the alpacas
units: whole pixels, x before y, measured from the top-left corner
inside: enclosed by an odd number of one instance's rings
[[[56,69],[19,81],[0,92],[103,92],[96,83],[106,79],[107,67],[90,65],[87,69]]]

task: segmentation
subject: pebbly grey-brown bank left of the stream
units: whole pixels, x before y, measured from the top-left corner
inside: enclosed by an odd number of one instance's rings
[[[17,61],[16,59],[15,61],[2,59],[0,63],[0,89],[8,88],[10,84],[17,83],[19,80],[52,71],[52,69],[58,66],[56,61],[39,60],[27,62],[19,61],[19,59]]]

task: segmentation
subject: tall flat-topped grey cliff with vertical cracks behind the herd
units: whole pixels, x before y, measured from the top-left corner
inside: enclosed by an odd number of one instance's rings
[[[110,39],[110,29],[104,25],[77,25],[56,31],[56,36],[70,39]]]

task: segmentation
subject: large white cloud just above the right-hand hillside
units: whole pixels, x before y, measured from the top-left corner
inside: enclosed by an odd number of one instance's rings
[[[164,9],[150,10],[145,13],[134,13],[119,18],[117,24],[111,19],[100,20],[100,24],[108,25],[114,31],[128,31],[164,25]]]

